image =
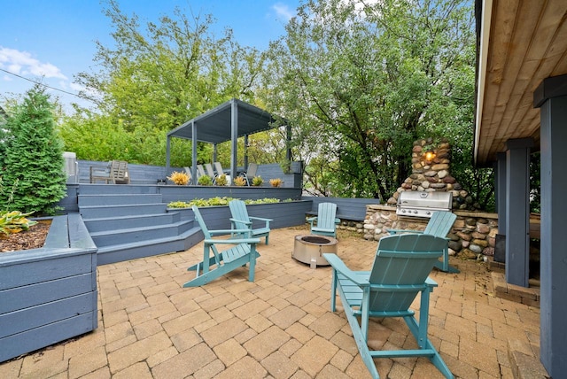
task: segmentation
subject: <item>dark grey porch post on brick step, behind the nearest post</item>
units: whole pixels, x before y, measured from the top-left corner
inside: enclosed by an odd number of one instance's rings
[[[530,275],[530,148],[532,138],[506,142],[506,282],[528,287]]]

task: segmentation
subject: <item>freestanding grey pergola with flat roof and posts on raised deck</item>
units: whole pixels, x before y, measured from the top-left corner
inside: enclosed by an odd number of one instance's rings
[[[237,176],[237,140],[244,136],[245,149],[248,146],[248,135],[276,128],[276,118],[270,113],[232,98],[214,109],[185,122],[180,127],[167,133],[166,169],[170,169],[170,143],[172,137],[190,139],[191,148],[191,180],[197,184],[197,142],[214,144],[216,159],[216,144],[231,141],[230,176]],[[291,138],[291,127],[287,126],[287,140]],[[291,151],[288,148],[287,159],[291,161]],[[248,155],[245,153],[245,168],[248,166]]]

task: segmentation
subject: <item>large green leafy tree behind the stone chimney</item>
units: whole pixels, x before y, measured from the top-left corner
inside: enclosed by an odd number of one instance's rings
[[[327,158],[312,182],[384,201],[408,177],[413,141],[472,128],[473,12],[463,0],[360,4],[300,6],[270,45],[261,97],[296,126],[296,157]]]

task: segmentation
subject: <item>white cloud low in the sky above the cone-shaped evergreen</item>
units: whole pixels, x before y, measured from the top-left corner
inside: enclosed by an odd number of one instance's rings
[[[34,75],[67,80],[67,77],[61,73],[57,66],[40,62],[27,51],[8,49],[2,46],[0,46],[0,68],[19,75]]]

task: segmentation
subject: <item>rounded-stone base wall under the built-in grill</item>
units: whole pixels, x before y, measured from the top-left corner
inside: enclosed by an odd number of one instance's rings
[[[478,259],[494,254],[498,234],[498,214],[454,211],[457,219],[447,235],[449,254],[462,259]],[[392,205],[367,205],[364,238],[378,241],[389,236],[388,229],[423,230],[429,219],[398,217]]]

